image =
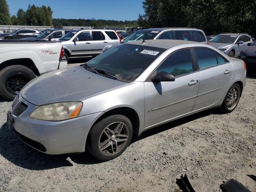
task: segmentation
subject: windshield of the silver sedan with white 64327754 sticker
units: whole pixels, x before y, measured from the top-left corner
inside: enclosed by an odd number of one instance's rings
[[[122,44],[88,61],[94,70],[104,70],[124,82],[132,82],[166,49]]]

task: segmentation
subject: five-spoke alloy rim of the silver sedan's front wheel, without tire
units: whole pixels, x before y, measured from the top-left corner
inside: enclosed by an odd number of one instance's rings
[[[114,122],[107,126],[99,140],[100,152],[104,155],[114,155],[124,148],[128,140],[128,128],[122,122]]]

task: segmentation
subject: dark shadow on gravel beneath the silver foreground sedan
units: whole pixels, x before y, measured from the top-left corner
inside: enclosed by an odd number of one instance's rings
[[[138,140],[145,139],[154,134],[164,132],[170,128],[182,125],[184,123],[202,118],[213,114],[213,110],[201,112],[176,120],[172,123],[158,126],[157,128],[148,130],[142,133],[139,137],[134,138],[131,143]],[[73,166],[76,164],[99,164],[101,161],[96,160],[89,152],[82,154],[62,154],[62,155],[48,155],[42,152],[38,152],[33,148],[27,146],[12,132],[7,123],[3,124],[0,128],[0,154],[6,158],[6,160],[12,162],[16,166],[26,168],[29,170],[47,170],[52,168]]]

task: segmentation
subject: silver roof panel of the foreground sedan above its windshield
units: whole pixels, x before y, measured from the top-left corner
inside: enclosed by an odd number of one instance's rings
[[[174,47],[176,45],[198,43],[198,42],[194,42],[194,41],[166,40],[166,39],[145,40],[145,43],[142,43],[142,41],[143,40],[132,41],[132,42],[128,42],[126,44],[142,45],[142,46],[150,46],[150,47],[168,49],[168,48]]]

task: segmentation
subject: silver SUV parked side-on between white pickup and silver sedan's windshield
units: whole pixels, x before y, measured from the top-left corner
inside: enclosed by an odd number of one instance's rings
[[[70,57],[94,56],[102,53],[106,46],[121,43],[114,30],[78,29],[60,38],[66,59]]]

